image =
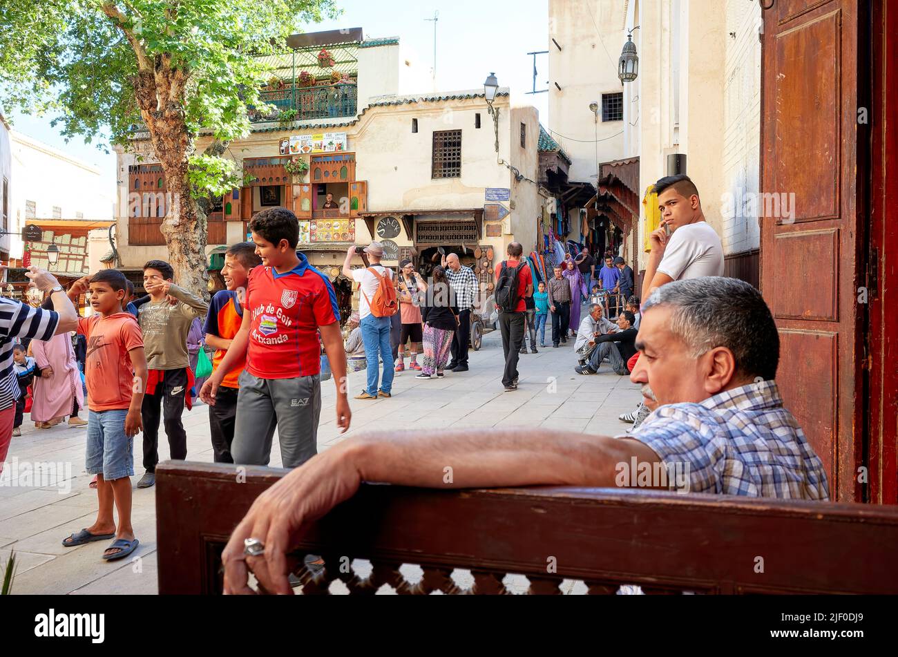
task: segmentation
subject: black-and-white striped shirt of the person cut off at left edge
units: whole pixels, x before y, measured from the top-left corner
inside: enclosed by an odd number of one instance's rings
[[[22,396],[13,368],[13,346],[21,340],[48,340],[59,323],[56,311],[31,308],[22,302],[0,297],[0,411]]]

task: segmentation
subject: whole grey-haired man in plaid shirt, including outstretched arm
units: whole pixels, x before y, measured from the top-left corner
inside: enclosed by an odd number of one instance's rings
[[[634,434],[553,431],[546,440],[544,428],[508,425],[473,434],[389,429],[340,442],[252,504],[222,557],[225,593],[252,593],[249,570],[267,591],[290,593],[287,553],[363,481],[611,487],[620,485],[616,464],[635,462],[649,472],[686,466],[691,493],[829,499],[823,463],[779,397],[779,334],[752,285],[717,276],[664,285],[643,305],[638,346],[630,381],[643,383],[647,401],[659,406]],[[263,543],[264,556],[244,554],[250,538]]]

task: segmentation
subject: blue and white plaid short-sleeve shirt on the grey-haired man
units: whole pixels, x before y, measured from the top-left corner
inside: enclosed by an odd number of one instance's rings
[[[632,434],[665,465],[688,467],[690,493],[828,500],[823,462],[783,407],[775,381],[698,404],[658,407]],[[674,487],[673,482],[671,487]]]

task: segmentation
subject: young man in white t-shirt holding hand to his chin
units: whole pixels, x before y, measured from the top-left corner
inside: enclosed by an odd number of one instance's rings
[[[661,226],[649,236],[642,298],[672,281],[700,276],[723,276],[724,250],[718,233],[705,221],[699,190],[684,174],[655,183]],[[668,235],[665,226],[670,228]]]

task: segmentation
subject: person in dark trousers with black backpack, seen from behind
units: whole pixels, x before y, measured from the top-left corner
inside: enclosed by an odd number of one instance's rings
[[[499,330],[506,366],[502,385],[506,392],[517,390],[517,359],[524,344],[524,314],[526,297],[533,294],[533,276],[523,260],[524,248],[516,241],[508,245],[508,259],[496,266],[496,307],[499,311]]]

